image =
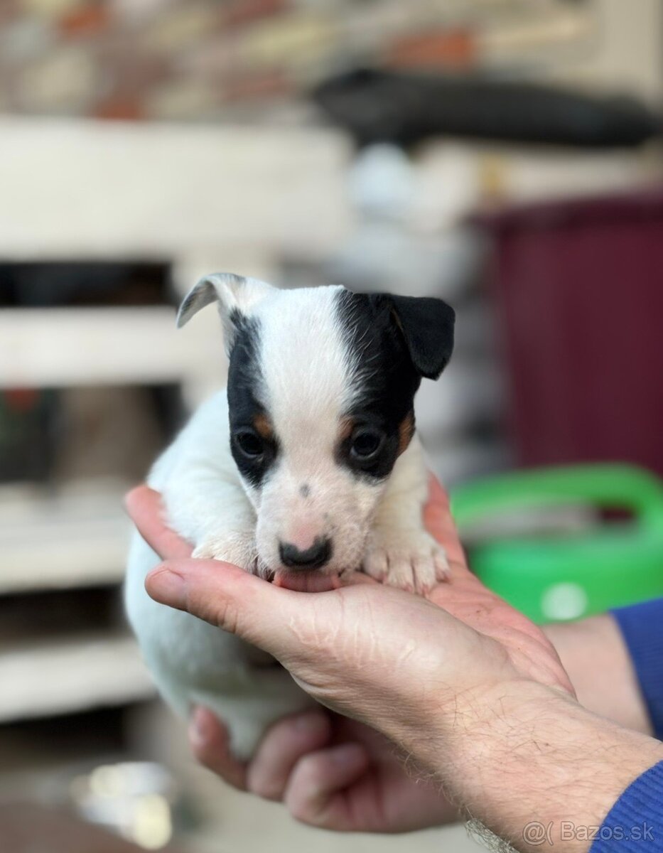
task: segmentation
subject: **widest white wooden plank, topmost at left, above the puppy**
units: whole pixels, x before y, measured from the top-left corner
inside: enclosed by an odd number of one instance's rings
[[[324,258],[349,226],[349,153],[328,130],[2,118],[0,257]]]

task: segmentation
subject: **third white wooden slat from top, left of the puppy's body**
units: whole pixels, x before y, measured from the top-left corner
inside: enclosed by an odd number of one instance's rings
[[[0,487],[0,595],[118,583],[130,537],[124,490]]]

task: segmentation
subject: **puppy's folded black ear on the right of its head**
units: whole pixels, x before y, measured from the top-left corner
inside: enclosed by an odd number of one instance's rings
[[[426,296],[388,296],[387,299],[418,373],[426,379],[437,379],[453,352],[456,319],[453,308],[442,299]]]

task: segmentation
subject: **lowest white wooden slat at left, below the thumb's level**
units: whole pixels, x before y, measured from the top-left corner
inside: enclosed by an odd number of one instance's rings
[[[153,697],[133,638],[85,634],[0,646],[0,722]]]

